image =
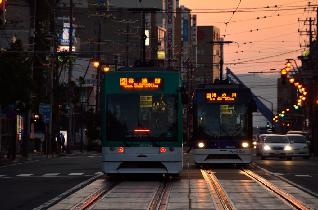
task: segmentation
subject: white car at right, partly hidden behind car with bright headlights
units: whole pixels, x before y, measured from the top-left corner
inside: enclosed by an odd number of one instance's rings
[[[289,141],[294,141],[292,144],[293,156],[300,156],[303,159],[309,159],[309,144],[306,138],[301,134],[286,134]]]

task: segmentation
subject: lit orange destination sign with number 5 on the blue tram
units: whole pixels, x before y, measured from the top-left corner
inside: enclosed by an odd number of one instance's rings
[[[211,92],[206,93],[207,103],[224,103],[224,102],[239,102],[239,94],[237,92]]]

